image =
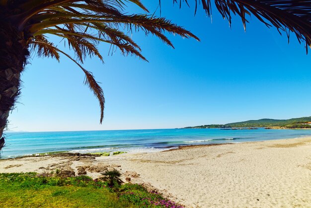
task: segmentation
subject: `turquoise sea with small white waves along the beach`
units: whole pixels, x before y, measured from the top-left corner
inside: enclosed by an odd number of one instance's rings
[[[153,152],[181,145],[264,141],[311,136],[295,129],[148,129],[106,131],[6,132],[1,158],[54,151]]]

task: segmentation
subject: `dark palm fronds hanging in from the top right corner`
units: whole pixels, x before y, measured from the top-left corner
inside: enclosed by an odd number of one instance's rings
[[[174,3],[190,0],[173,0]],[[201,4],[208,16],[214,1],[221,15],[231,24],[232,15],[238,15],[246,29],[247,15],[254,15],[268,27],[275,27],[281,33],[293,32],[299,42],[305,42],[306,52],[311,47],[311,0],[194,0],[195,12]]]

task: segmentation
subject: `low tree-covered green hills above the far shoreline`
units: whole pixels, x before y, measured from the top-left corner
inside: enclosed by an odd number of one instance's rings
[[[227,124],[211,124],[211,125],[201,125],[201,126],[191,126],[186,128],[249,128],[249,127],[269,127],[269,126],[286,126],[290,124],[296,123],[305,123],[310,122],[310,117],[301,117],[301,118],[291,118],[291,119],[270,119],[270,118],[263,118],[259,120],[247,120],[242,122],[235,122],[235,123],[227,123]]]

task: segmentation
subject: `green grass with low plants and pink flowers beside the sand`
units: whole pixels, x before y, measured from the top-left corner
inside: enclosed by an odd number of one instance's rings
[[[60,178],[36,173],[0,174],[0,208],[178,208],[142,186],[109,188],[87,176]]]

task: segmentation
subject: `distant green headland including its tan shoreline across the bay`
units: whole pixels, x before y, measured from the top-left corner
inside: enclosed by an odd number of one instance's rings
[[[254,128],[266,128],[266,129],[311,129],[311,116],[291,119],[270,119],[263,118],[259,120],[247,120],[242,122],[234,122],[227,124],[209,124],[200,126],[188,126],[184,128],[225,128],[225,129],[254,129]]]

